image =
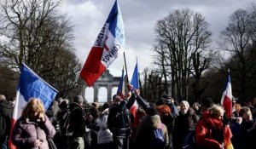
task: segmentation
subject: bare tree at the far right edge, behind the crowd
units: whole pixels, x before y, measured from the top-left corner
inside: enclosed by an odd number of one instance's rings
[[[255,11],[255,10],[254,10]],[[255,15],[254,15],[255,16]],[[236,94],[241,99],[247,99],[247,77],[252,72],[255,63],[253,50],[255,50],[255,18],[253,14],[244,9],[238,9],[230,16],[229,25],[221,32],[221,48],[230,52],[230,62],[226,67],[230,69],[233,83],[236,84]]]

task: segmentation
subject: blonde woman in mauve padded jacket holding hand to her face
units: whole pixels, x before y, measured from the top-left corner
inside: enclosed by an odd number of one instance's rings
[[[45,115],[41,100],[32,98],[28,101],[15,123],[12,141],[19,149],[49,149],[47,138],[53,138],[55,128]]]

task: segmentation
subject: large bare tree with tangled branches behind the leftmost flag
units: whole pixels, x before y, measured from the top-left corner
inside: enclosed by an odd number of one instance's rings
[[[4,66],[15,69],[26,63],[66,92],[78,85],[74,83],[80,66],[73,54],[73,26],[65,14],[58,13],[60,4],[59,0],[1,1],[0,54]]]

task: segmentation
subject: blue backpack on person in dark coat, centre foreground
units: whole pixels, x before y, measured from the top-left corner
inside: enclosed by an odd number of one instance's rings
[[[160,127],[154,129],[152,139],[150,141],[150,149],[164,149],[165,143],[165,133],[163,130],[163,123],[160,123]]]

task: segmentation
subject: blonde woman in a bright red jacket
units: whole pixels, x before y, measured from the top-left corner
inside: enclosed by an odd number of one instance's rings
[[[213,105],[202,113],[201,123],[195,129],[195,142],[198,149],[223,149],[231,146],[232,133],[228,125],[224,125],[224,108]]]

